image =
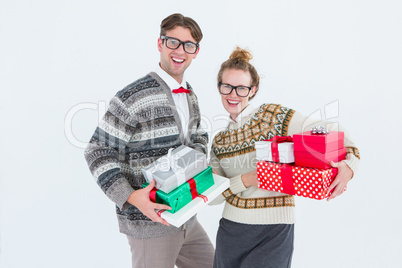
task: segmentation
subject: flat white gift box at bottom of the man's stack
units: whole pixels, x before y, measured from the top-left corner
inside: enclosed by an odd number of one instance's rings
[[[230,186],[228,178],[213,174],[214,185],[206,190],[202,195],[204,198],[196,197],[190,203],[182,207],[179,211],[172,214],[169,211],[163,211],[160,216],[173,226],[180,227],[192,216],[197,214],[203,207],[207,206],[212,200],[222,194]]]

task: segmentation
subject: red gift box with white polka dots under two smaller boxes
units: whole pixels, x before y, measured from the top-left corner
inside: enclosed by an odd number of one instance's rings
[[[259,188],[317,200],[329,196],[326,194],[328,187],[337,173],[337,168],[317,169],[268,161],[257,162]]]

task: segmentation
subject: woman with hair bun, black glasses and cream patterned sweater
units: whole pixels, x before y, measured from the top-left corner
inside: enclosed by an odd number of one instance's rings
[[[258,188],[255,141],[292,136],[307,119],[278,104],[253,107],[259,75],[252,55],[236,48],[218,73],[218,89],[230,123],[213,139],[210,165],[230,179],[230,188],[213,204],[225,207],[216,238],[214,267],[290,267],[294,237],[294,197]],[[322,124],[322,122],[319,122]],[[342,130],[343,131],[343,130]],[[331,163],[338,175],[328,199],[343,192],[359,162],[359,152],[347,135],[347,160]]]

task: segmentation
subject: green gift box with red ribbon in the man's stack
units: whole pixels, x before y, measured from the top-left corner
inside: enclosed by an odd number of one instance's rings
[[[149,183],[144,183],[142,186],[145,188]],[[212,176],[212,168],[208,166],[205,170],[198,173],[192,179],[183,183],[170,193],[165,193],[161,190],[154,188],[150,192],[150,199],[159,204],[165,204],[172,209],[167,210],[170,213],[175,213],[185,205],[187,205],[194,198],[204,198],[201,194],[214,184]],[[201,195],[201,196],[199,196]]]

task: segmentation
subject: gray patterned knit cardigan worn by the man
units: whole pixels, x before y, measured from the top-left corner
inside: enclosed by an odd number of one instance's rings
[[[151,222],[126,200],[145,182],[141,169],[167,154],[169,148],[185,144],[207,152],[208,135],[199,130],[197,97],[187,86],[191,91],[187,94],[190,112],[187,140],[171,89],[156,73],[149,73],[111,100],[85,151],[95,180],[116,203],[122,233],[150,238],[177,231],[175,227]]]

